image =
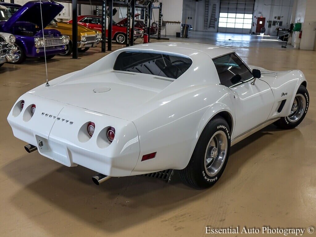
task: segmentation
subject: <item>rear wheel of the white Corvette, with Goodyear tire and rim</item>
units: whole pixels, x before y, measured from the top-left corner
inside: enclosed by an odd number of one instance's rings
[[[229,151],[230,129],[218,116],[205,126],[189,164],[179,171],[181,179],[197,189],[214,185],[224,172]]]

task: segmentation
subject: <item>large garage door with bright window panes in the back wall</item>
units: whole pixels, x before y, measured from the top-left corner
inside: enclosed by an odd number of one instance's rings
[[[218,31],[249,33],[255,0],[221,0]]]

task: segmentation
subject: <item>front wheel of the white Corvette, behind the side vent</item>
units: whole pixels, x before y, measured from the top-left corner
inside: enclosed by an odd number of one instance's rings
[[[282,117],[277,120],[274,124],[281,129],[295,128],[305,118],[308,110],[308,104],[309,94],[307,88],[301,85],[295,95],[290,114],[287,117]]]

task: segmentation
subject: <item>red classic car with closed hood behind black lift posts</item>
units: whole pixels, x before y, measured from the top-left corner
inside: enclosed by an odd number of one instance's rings
[[[78,16],[78,24],[101,31],[101,16],[96,15],[80,15]],[[72,20],[68,21],[72,23]],[[112,40],[115,40],[118,44],[126,43],[126,26],[122,26],[115,21],[112,21]],[[134,27],[134,41],[143,36],[143,29]],[[107,37],[107,30],[106,30]]]

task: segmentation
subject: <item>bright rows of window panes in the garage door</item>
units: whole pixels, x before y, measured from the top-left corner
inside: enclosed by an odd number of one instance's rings
[[[218,27],[251,29],[252,14],[224,13],[219,14]]]

